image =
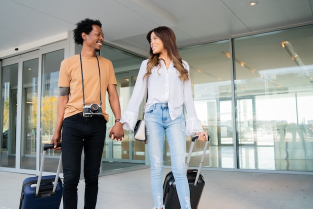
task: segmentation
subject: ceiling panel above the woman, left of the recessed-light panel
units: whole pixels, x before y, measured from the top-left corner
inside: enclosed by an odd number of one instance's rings
[[[221,0],[198,0],[175,2],[173,7],[164,0],[161,6],[172,12],[177,19],[177,28],[197,42],[214,38],[228,37],[233,33],[249,32],[248,28],[237,18]]]

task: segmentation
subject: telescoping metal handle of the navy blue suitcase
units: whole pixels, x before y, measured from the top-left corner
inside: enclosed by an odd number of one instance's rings
[[[61,147],[61,143],[58,143],[56,147]],[[40,164],[40,170],[39,170],[39,175],[38,175],[35,195],[38,195],[38,193],[39,193],[39,187],[40,187],[40,182],[41,182],[41,176],[42,176],[45,152],[46,152],[47,149],[52,149],[52,148],[54,148],[54,144],[52,144],[52,143],[44,144],[44,146],[43,146],[43,152],[42,152],[42,158],[41,158],[41,164]],[[58,165],[57,165],[57,170],[56,170],[56,174],[55,174],[55,179],[54,179],[52,192],[55,192],[55,190],[56,190],[56,185],[57,185],[57,182],[58,182],[58,176],[60,174],[61,164],[62,164],[62,152],[60,153],[60,159],[58,160]]]

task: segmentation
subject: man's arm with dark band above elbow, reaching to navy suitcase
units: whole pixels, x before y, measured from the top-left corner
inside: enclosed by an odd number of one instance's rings
[[[68,102],[68,93],[69,93],[69,87],[60,87],[60,92],[59,92],[59,96],[57,99],[57,106],[56,106],[56,124],[55,124],[54,133],[51,139],[51,143],[54,143],[54,147],[56,147],[56,144],[59,143],[61,140],[61,129],[63,125],[65,105]],[[56,149],[60,149],[60,147]]]

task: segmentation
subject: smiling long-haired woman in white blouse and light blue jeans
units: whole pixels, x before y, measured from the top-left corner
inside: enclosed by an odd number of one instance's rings
[[[182,61],[174,32],[166,26],[152,29],[146,36],[150,56],[142,61],[133,93],[121,117],[124,129],[134,129],[140,102],[148,79],[145,104],[147,146],[151,167],[151,188],[154,209],[164,209],[162,174],[164,133],[170,148],[171,169],[174,175],[181,208],[191,208],[185,170],[185,135],[198,134],[206,140],[207,133],[198,122],[192,98],[189,66]],[[186,112],[186,120],[182,113]]]

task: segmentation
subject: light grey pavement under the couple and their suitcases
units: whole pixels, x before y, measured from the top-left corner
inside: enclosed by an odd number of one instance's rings
[[[169,171],[165,168],[163,177]],[[205,185],[198,209],[313,208],[313,175],[203,169],[201,174]],[[1,209],[19,207],[22,181],[29,176],[0,171]],[[149,168],[100,176],[96,209],[151,209],[149,176]],[[83,208],[83,194],[84,180],[80,180],[78,209]]]

